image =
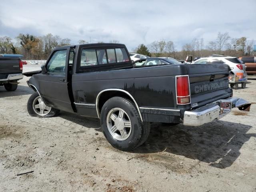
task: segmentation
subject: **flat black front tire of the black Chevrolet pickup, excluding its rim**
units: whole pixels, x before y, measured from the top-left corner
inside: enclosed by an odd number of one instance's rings
[[[27,104],[27,109],[28,109],[28,113],[30,114],[30,116],[34,116],[34,117],[42,117],[42,118],[45,118],[45,117],[54,117],[54,116],[57,116],[59,113],[60,113],[60,110],[58,109],[54,109],[54,108],[51,108],[50,109],[50,112],[48,112],[47,114],[45,115],[39,115],[35,112],[34,108],[33,108],[33,102],[36,98],[40,97],[40,95],[38,94],[38,92],[34,92],[30,98],[28,99],[28,104]]]

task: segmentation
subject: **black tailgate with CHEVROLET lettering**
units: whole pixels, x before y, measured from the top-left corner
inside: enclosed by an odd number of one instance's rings
[[[230,97],[226,64],[186,64],[190,81],[191,107],[196,108]]]

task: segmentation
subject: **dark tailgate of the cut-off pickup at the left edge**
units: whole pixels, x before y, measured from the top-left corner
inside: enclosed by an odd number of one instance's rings
[[[0,79],[7,78],[8,74],[22,73],[19,58],[0,57]]]

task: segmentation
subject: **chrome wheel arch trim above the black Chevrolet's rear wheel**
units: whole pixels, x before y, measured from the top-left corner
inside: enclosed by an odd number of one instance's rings
[[[122,89],[105,89],[105,90],[102,90],[101,92],[99,92],[99,94],[97,95],[97,98],[96,98],[96,111],[97,111],[97,114],[98,114],[98,118],[100,118],[100,112],[101,112],[101,109],[102,109],[102,106],[104,105],[104,103],[112,98],[112,97],[115,97],[115,96],[121,96],[121,97],[124,97],[124,98],[127,98],[129,100],[131,100],[132,102],[134,102],[137,110],[138,110],[138,113],[140,115],[140,119],[141,121],[143,122],[143,119],[142,119],[142,116],[141,116],[141,113],[140,113],[140,108],[136,102],[136,100],[133,98],[133,96],[125,91],[125,90],[122,90]]]

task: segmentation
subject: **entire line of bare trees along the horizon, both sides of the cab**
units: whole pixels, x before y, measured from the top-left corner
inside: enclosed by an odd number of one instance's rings
[[[16,41],[15,41],[16,40]],[[14,42],[15,41],[15,42]],[[22,54],[24,59],[44,60],[47,59],[54,48],[70,45],[71,40],[60,38],[51,33],[45,36],[34,36],[31,34],[19,34],[14,40],[8,36],[0,37],[0,53]],[[110,43],[118,43],[118,40],[111,40]],[[79,44],[88,44],[86,40],[79,40]],[[103,42],[98,42],[103,43]],[[254,40],[247,40],[246,37],[231,38],[228,32],[218,32],[216,39],[204,45],[203,38],[194,38],[177,50],[171,40],[156,40],[148,45],[140,44],[133,50],[140,54],[153,57],[172,57],[184,60],[186,55],[209,56],[211,54],[223,54],[229,56],[251,55]]]

